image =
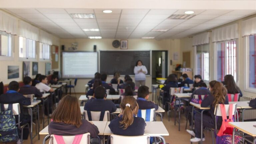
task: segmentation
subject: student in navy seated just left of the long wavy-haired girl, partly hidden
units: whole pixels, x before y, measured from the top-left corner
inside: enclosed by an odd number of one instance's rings
[[[207,95],[208,96],[210,94],[211,94],[211,92],[207,89],[207,85],[203,82],[203,83],[201,83],[199,85],[199,89],[195,90],[191,94],[191,96],[190,96],[190,98],[188,100],[188,103],[191,102],[191,100],[193,99],[194,95]],[[189,126],[192,125],[191,115],[189,114],[189,112],[192,112],[192,108],[193,108],[193,106],[189,105],[189,106],[186,107],[186,110],[185,110],[186,116],[188,116]]]

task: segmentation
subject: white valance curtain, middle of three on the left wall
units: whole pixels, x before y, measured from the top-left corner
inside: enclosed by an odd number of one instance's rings
[[[19,36],[38,41],[39,29],[29,23],[19,21]]]

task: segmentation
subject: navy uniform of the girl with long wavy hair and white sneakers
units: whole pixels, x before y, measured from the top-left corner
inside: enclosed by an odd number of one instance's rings
[[[206,126],[208,128],[215,128],[215,116],[214,116],[214,108],[215,106],[212,105],[215,98],[210,94],[207,96],[201,103],[201,107],[209,107],[210,110],[203,115],[203,126]],[[225,96],[225,102],[224,104],[228,103],[228,96]],[[201,114],[196,113],[195,114],[195,136],[197,138],[201,138]],[[217,119],[217,129],[220,129],[220,126],[222,124],[222,118],[219,117]],[[204,134],[203,134],[204,138]]]

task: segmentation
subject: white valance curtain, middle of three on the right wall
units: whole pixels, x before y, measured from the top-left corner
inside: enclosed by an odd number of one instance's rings
[[[212,31],[212,42],[238,38],[238,24],[224,26]]]

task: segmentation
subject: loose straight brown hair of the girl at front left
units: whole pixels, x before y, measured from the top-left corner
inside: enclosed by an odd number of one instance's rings
[[[52,114],[54,122],[75,125],[77,128],[82,124],[81,119],[78,99],[71,95],[64,96]]]

